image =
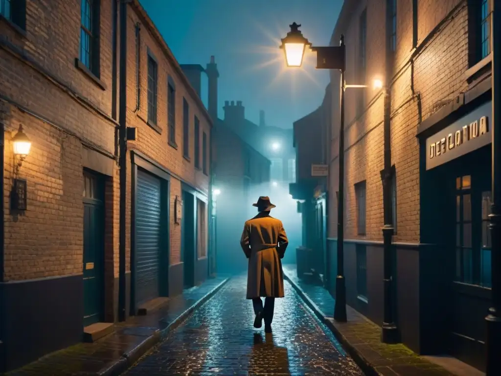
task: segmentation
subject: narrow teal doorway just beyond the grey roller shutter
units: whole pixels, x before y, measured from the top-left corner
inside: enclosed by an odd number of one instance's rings
[[[195,285],[195,197],[187,191],[183,191],[181,231],[184,288],[190,288]]]

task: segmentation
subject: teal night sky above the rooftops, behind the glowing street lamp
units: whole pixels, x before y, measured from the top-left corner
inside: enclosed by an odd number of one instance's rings
[[[327,46],[342,0],[140,0],[180,64],[205,64],[214,55],[219,70],[219,117],[225,100],[241,100],[245,117],[267,125],[292,123],[322,103],[327,71],[287,68],[279,50],[293,22],[314,46]],[[206,102],[206,79],[202,99]]]

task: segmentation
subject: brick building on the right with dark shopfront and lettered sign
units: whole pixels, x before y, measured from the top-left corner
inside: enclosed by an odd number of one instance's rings
[[[479,369],[490,300],[490,4],[486,0],[346,1],[345,276],[348,304],[383,320],[383,90],[390,90],[393,311],[403,343]],[[329,246],[336,260],[339,74]],[[332,289],[334,293],[334,289]]]

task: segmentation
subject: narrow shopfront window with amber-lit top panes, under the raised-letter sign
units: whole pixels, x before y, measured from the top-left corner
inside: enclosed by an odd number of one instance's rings
[[[456,178],[456,281],[473,283],[471,176]]]

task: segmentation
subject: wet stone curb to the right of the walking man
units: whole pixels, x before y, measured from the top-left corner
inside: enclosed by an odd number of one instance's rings
[[[329,320],[324,313],[320,310],[320,308],[306,295],[306,293],[289,278],[289,276],[284,272],[284,278],[291,284],[291,286],[296,290],[299,296],[305,301],[305,303],[311,308],[311,310],[315,313],[315,315],[324,323],[334,334],[336,339],[341,343],[346,352],[350,354],[350,356],[355,360],[357,365],[362,369],[362,371],[367,376],[380,376],[374,365],[372,365],[367,358],[362,355],[360,351],[358,351],[355,346],[353,346],[346,337],[339,331],[338,328],[334,325],[334,323]]]

